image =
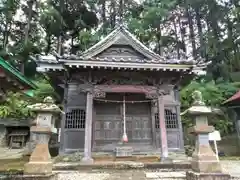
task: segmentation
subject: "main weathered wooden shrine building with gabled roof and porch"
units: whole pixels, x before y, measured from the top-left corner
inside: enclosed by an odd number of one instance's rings
[[[204,64],[165,59],[124,26],[80,55],[38,55],[63,97],[60,153],[113,153],[122,141],[133,153],[184,151],[179,87]]]

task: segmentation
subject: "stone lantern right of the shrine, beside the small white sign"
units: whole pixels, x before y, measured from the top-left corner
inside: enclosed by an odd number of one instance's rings
[[[222,173],[220,162],[209,144],[208,134],[215,129],[208,125],[208,117],[215,111],[205,105],[200,91],[193,93],[193,100],[192,107],[181,114],[188,114],[195,121],[195,126],[189,129],[196,136],[196,143],[192,154],[192,171],[187,172],[187,179],[230,179],[229,174]]]

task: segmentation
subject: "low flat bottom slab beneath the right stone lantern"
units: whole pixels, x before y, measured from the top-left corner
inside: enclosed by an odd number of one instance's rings
[[[186,173],[186,180],[229,180],[231,176],[224,173],[198,173],[188,171]]]

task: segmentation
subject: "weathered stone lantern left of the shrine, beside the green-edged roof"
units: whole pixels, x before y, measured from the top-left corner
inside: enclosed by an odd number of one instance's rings
[[[48,149],[48,142],[51,134],[55,131],[55,120],[61,110],[54,104],[51,97],[46,97],[43,103],[37,103],[29,106],[37,113],[35,124],[30,131],[36,137],[36,147],[33,150],[30,160],[24,166],[24,174],[51,174],[52,161]]]

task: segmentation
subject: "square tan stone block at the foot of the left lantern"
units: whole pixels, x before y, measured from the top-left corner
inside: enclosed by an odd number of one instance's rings
[[[24,165],[26,175],[48,175],[52,174],[52,162],[29,162]]]

